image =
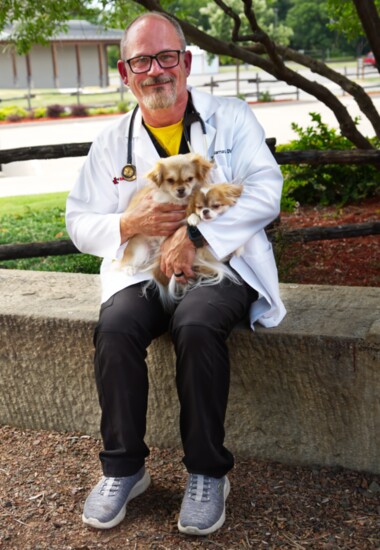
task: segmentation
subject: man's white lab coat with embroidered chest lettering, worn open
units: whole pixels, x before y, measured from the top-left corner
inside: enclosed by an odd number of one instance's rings
[[[250,322],[266,327],[280,323],[286,310],[280,299],[277,268],[264,228],[279,214],[282,176],[270,153],[262,127],[246,102],[215,97],[189,88],[195,109],[206,126],[191,126],[190,140],[195,152],[213,158],[214,182],[244,184],[236,206],[212,221],[198,226],[217,258],[223,258],[244,245],[241,256],[233,256],[231,266],[255,288],[259,299],[252,304]],[[127,275],[111,267],[121,258],[128,243],[120,245],[120,215],[137,189],[146,185],[144,174],[158,160],[137,112],[133,128],[133,163],[137,179],[121,178],[127,162],[128,129],[131,113],[110,124],[93,142],[88,157],[68,200],[66,224],[79,250],[100,256],[102,302],[121,289],[147,279],[147,274]],[[217,130],[216,130],[217,129]]]

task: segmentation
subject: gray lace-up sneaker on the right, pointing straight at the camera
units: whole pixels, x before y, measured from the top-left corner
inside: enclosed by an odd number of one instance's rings
[[[225,501],[230,492],[227,476],[190,474],[183,497],[178,529],[188,535],[209,535],[226,519]]]

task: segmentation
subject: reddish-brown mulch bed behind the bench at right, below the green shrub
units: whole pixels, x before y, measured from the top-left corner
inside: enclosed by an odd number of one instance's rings
[[[342,208],[303,206],[281,214],[281,228],[359,224],[380,220],[380,196]],[[379,286],[380,235],[280,245],[283,283]]]

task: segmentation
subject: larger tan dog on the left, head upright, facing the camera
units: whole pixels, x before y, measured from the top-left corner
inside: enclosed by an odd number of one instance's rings
[[[174,155],[160,159],[146,174],[150,184],[135,193],[126,212],[133,210],[141,199],[153,191],[153,200],[159,203],[187,205],[190,195],[197,186],[207,181],[212,163],[195,153]],[[168,280],[159,269],[160,247],[165,237],[135,235],[127,244],[118,269],[128,275],[138,271],[154,271],[154,277],[162,284]]]

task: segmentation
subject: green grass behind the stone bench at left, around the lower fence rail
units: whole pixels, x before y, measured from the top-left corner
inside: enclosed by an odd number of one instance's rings
[[[67,193],[0,199],[0,245],[68,239],[65,226]],[[99,273],[100,259],[69,254],[0,262],[3,269]]]

